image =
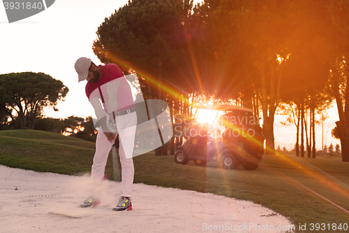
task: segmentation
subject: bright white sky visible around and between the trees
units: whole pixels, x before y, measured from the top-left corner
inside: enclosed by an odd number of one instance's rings
[[[18,22],[8,23],[6,12],[0,6],[0,74],[17,72],[43,72],[61,80],[69,88],[65,101],[57,104],[58,112],[46,109],[45,116],[67,118],[70,115],[94,117],[94,110],[84,93],[85,82],[77,83],[74,64],[79,57],[89,57],[101,64],[92,51],[97,38],[96,30],[105,17],[124,6],[127,0],[57,0],[50,8]],[[198,1],[195,1],[198,2]],[[324,143],[340,145],[332,138],[331,130],[339,120],[336,104],[329,110],[324,122]],[[295,146],[295,125],[280,124],[283,117],[276,115],[274,134],[276,147],[287,150]],[[261,120],[262,123],[262,120]],[[326,133],[327,132],[327,133]],[[325,140],[325,135],[327,140]],[[322,127],[316,125],[316,148],[322,146]]]

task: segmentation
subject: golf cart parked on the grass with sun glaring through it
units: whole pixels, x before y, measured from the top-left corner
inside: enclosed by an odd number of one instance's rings
[[[262,161],[264,140],[258,118],[253,109],[231,105],[195,106],[197,115],[200,109],[224,113],[218,119],[221,129],[214,128],[214,122],[200,124],[192,120],[186,122],[184,138],[186,141],[177,148],[174,161],[205,166],[209,161],[216,161],[226,169],[236,169],[240,164],[247,170],[255,170]],[[195,130],[194,130],[195,129]],[[221,132],[223,132],[221,134]]]

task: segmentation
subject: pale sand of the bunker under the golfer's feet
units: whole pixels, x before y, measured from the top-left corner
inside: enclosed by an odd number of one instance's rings
[[[121,184],[112,181],[101,185],[102,204],[80,209],[89,181],[0,165],[0,232],[285,232],[291,225],[252,202],[144,184],[133,185],[133,211],[114,212]]]

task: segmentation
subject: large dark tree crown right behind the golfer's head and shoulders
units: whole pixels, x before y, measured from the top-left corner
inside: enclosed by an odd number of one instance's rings
[[[192,10],[192,0],[128,1],[98,27],[94,53],[103,63],[118,64],[124,73],[138,73],[152,97],[160,97],[166,83],[188,90],[193,70],[186,27]]]

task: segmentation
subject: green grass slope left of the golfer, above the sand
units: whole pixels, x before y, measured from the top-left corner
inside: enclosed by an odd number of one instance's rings
[[[71,141],[64,144],[63,139],[55,141],[0,136],[0,164],[71,175],[89,171],[94,149],[72,146]]]

